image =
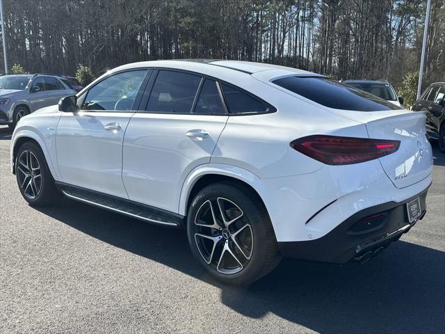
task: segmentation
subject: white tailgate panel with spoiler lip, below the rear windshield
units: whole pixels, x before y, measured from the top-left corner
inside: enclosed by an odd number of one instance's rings
[[[407,110],[335,113],[364,122],[369,138],[401,142],[396,152],[379,159],[397,188],[415,184],[432,173],[432,150],[426,138],[425,113]]]

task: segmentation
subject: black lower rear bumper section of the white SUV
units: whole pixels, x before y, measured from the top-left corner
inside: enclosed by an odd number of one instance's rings
[[[429,188],[429,186],[428,186]],[[409,223],[406,203],[419,197],[422,214],[426,213],[426,194],[428,188],[408,198],[403,202],[387,202],[363,209],[346,221],[339,224],[325,236],[311,241],[279,242],[278,246],[284,257],[293,257],[300,260],[320,262],[346,263],[350,260],[359,260],[366,253],[372,254],[388,246],[391,241],[398,240],[416,223]],[[382,214],[380,218],[371,221],[371,228],[357,230],[357,224],[366,217]],[[363,226],[363,225],[361,225]]]

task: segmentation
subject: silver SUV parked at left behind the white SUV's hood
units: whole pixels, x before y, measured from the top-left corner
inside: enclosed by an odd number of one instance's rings
[[[0,125],[11,129],[23,116],[57,104],[76,94],[60,77],[51,74],[6,74],[0,76]]]

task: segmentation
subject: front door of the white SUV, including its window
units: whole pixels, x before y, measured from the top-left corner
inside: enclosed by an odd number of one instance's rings
[[[148,72],[111,74],[79,96],[81,111],[63,113],[56,132],[62,182],[128,198],[122,183],[122,141]]]

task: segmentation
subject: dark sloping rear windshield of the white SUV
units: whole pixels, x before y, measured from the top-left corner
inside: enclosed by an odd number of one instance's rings
[[[385,111],[401,109],[363,90],[325,77],[285,77],[273,84],[333,109]]]

